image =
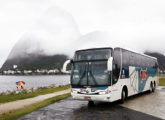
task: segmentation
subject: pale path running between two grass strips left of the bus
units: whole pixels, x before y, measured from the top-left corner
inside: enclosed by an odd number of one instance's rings
[[[40,96],[37,96],[34,98],[28,98],[28,99],[24,99],[24,100],[17,100],[17,101],[13,101],[13,102],[0,104],[0,115],[3,113],[7,113],[7,112],[10,112],[13,110],[18,110],[18,109],[24,108],[26,106],[29,106],[31,104],[41,102],[46,99],[56,97],[59,95],[63,95],[63,94],[67,94],[67,93],[70,93],[70,89],[63,90],[60,92],[50,93],[50,94],[46,94],[46,95],[40,95]]]

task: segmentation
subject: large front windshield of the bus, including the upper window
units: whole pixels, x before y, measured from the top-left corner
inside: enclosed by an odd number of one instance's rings
[[[110,85],[110,74],[107,70],[107,60],[110,56],[111,49],[77,51],[72,64],[71,84]]]

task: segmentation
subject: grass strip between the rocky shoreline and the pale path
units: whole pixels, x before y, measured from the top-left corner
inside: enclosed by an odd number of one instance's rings
[[[61,90],[66,90],[69,88],[70,88],[70,85],[66,85],[66,86],[60,86],[60,87],[56,87],[56,88],[52,87],[52,88],[39,89],[39,90],[30,92],[30,93],[23,92],[23,93],[19,93],[19,94],[0,95],[0,103],[22,100],[22,99],[26,99],[26,98],[32,98],[32,97],[36,97],[39,95],[45,95],[45,94],[49,94],[49,93],[53,93],[53,92],[58,92]]]

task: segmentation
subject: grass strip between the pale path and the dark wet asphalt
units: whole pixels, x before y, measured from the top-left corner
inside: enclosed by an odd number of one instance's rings
[[[39,103],[35,103],[35,104],[30,105],[28,107],[19,109],[17,111],[12,111],[10,113],[6,113],[6,114],[3,114],[3,115],[0,115],[0,120],[16,120],[16,119],[20,118],[21,116],[24,116],[24,115],[26,115],[28,113],[31,113],[31,112],[33,112],[35,110],[38,110],[38,109],[40,109],[42,107],[45,107],[45,106],[49,105],[49,104],[52,104],[52,103],[54,103],[56,101],[65,99],[65,98],[67,98],[69,96],[70,96],[70,93],[64,94],[64,95],[60,95],[60,96],[56,96],[56,97],[47,99],[47,100],[39,102]]]

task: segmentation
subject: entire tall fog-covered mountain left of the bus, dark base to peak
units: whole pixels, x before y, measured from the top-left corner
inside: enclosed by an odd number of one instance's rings
[[[50,7],[12,48],[2,70],[18,68],[61,68],[80,32],[72,15]],[[70,55],[71,56],[71,55]],[[33,67],[32,67],[33,66]]]

